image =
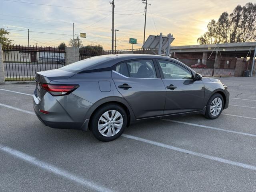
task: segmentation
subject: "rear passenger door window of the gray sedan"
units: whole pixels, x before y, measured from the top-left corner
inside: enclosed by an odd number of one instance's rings
[[[156,78],[156,70],[152,60],[137,60],[121,63],[116,72],[133,78]]]

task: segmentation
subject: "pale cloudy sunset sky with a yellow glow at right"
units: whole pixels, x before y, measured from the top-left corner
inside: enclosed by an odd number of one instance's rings
[[[207,31],[211,19],[231,13],[240,4],[255,0],[148,0],[146,38],[173,34],[172,46],[194,45]],[[143,44],[145,11],[141,0],[115,0],[116,49],[131,49],[129,38]],[[82,44],[111,50],[112,7],[109,0],[0,0],[0,28],[8,29],[15,44],[68,45],[75,34],[86,33]],[[48,34],[46,34],[48,33]]]

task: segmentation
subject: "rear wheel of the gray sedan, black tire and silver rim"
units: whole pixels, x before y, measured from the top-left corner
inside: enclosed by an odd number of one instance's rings
[[[96,110],[92,117],[92,134],[100,141],[120,137],[127,125],[127,114],[118,104],[107,104]]]

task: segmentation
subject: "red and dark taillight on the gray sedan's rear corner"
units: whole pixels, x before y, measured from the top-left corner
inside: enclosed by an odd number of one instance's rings
[[[76,90],[79,85],[45,84],[40,83],[42,89],[48,91],[52,96],[61,96],[70,94]]]

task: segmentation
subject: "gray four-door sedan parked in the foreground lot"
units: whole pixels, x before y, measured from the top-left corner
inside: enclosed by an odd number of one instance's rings
[[[119,54],[37,72],[33,102],[46,126],[90,129],[98,140],[111,141],[148,118],[218,118],[228,108],[229,92],[220,80],[202,78],[178,60]]]

